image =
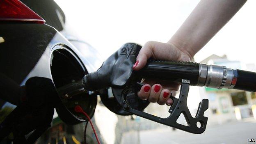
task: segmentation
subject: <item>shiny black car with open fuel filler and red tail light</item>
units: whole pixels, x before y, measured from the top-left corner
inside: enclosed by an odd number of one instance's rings
[[[77,104],[93,117],[97,96],[65,100],[57,91],[101,63],[89,44],[62,34],[64,23],[53,0],[0,1],[0,140],[34,143],[51,123],[62,126],[54,115],[69,125],[86,121]]]

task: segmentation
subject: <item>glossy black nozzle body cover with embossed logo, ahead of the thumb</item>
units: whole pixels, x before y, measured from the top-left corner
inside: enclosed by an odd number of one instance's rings
[[[124,87],[131,78],[133,64],[141,48],[142,46],[136,43],[126,43],[121,46],[117,52],[103,62],[97,71],[85,75],[86,89]]]

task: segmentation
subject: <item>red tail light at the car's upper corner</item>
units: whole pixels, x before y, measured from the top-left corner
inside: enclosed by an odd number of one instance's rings
[[[0,0],[0,21],[45,23],[43,18],[19,0]]]

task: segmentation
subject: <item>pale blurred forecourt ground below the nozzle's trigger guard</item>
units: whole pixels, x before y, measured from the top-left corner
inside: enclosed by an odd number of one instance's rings
[[[200,135],[171,128],[133,131],[123,135],[121,144],[256,144],[248,138],[256,140],[256,121],[209,126]]]

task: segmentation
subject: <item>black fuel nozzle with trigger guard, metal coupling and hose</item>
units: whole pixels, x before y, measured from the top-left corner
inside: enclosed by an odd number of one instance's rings
[[[141,48],[142,46],[136,43],[124,44],[105,60],[97,71],[85,75],[82,80],[59,88],[58,91],[61,91],[64,98],[71,98],[85,91],[106,90],[111,87],[114,98],[111,101],[107,100],[110,104],[106,107],[112,107],[109,108],[112,112],[121,115],[136,114],[151,121],[197,134],[203,133],[206,129],[208,118],[204,116],[204,112],[208,109],[208,100],[203,99],[199,103],[197,114],[192,117],[187,107],[190,85],[256,91],[256,73],[229,69],[225,66],[150,59],[143,69],[133,71],[133,64]],[[137,84],[142,78],[181,83],[179,98],[170,97],[174,103],[168,111],[169,117],[161,118],[143,112],[144,108],[149,105],[149,101],[137,96]],[[176,122],[181,113],[189,123],[188,126]],[[197,126],[197,122],[201,123],[200,127]]]

